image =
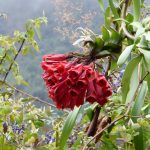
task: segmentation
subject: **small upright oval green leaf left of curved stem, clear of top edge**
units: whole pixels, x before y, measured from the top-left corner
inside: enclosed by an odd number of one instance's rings
[[[105,14],[104,14],[104,22],[105,22],[105,26],[107,28],[110,28],[111,26],[111,9],[110,7],[107,7],[105,10]]]

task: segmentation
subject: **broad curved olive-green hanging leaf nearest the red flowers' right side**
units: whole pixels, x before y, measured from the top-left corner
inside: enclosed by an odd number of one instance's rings
[[[128,92],[130,90],[130,80],[132,77],[132,74],[135,70],[135,68],[137,67],[137,65],[139,64],[139,62],[141,61],[141,56],[137,56],[135,58],[133,58],[127,65],[123,78],[122,78],[122,99],[123,102],[126,101]],[[132,86],[132,85],[131,85]]]

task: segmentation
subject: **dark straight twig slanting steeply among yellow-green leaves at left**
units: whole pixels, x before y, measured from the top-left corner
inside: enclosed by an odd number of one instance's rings
[[[10,64],[10,66],[9,66],[9,68],[8,68],[8,71],[6,72],[6,74],[5,74],[5,77],[4,77],[3,81],[5,81],[5,80],[6,80],[6,78],[7,78],[8,74],[9,74],[9,72],[11,71],[12,66],[13,66],[13,64],[14,64],[15,60],[17,59],[17,57],[18,57],[19,53],[21,52],[21,50],[22,50],[22,47],[23,47],[24,43],[25,43],[25,39],[23,39],[23,40],[22,40],[22,43],[21,43],[21,45],[20,45],[20,48],[19,48],[19,50],[18,50],[17,54],[15,55],[15,57],[14,57],[14,59],[13,59],[13,62]]]

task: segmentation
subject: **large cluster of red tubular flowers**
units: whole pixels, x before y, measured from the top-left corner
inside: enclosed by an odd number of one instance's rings
[[[57,108],[73,109],[84,101],[103,106],[112,94],[109,83],[92,64],[69,61],[64,54],[50,54],[43,57],[42,68],[49,97]]]

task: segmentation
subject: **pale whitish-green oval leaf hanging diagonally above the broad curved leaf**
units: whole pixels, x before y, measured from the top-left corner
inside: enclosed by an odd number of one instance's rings
[[[118,62],[117,62],[117,64],[119,66],[126,62],[126,60],[129,57],[133,47],[134,47],[134,45],[127,46],[125,48],[125,50],[121,53],[121,55],[118,58]]]

